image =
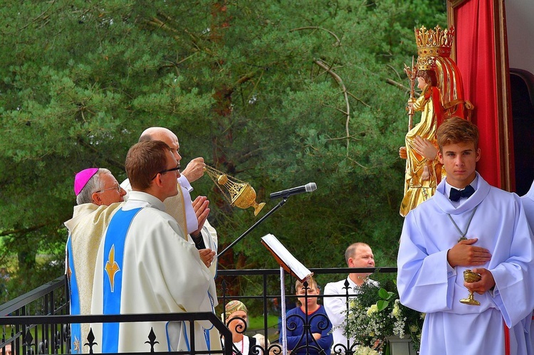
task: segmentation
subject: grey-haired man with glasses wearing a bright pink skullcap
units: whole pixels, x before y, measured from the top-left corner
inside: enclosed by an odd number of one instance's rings
[[[70,293],[70,314],[90,314],[96,252],[105,228],[122,206],[126,191],[119,186],[111,171],[103,168],[84,169],[74,177],[73,218],[65,222],[66,276]],[[89,324],[71,324],[71,351],[88,352]]]

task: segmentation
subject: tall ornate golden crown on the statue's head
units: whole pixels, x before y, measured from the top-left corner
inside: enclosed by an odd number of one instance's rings
[[[417,69],[429,70],[434,68],[434,60],[429,57],[449,57],[454,40],[454,27],[442,29],[439,25],[427,30],[424,26],[415,28],[415,42],[417,43]]]

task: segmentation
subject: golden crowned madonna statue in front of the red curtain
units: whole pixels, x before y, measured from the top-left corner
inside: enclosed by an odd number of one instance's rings
[[[448,117],[468,119],[473,106],[464,100],[461,75],[454,60],[450,58],[454,28],[442,30],[439,26],[429,31],[415,29],[417,42],[417,68],[407,74],[417,78],[422,90],[417,100],[408,101],[409,115],[422,112],[415,127],[409,127],[405,146],[399,156],[406,159],[404,174],[404,198],[400,206],[401,216],[436,192],[436,186],[445,176],[437,159],[436,130]],[[406,69],[405,69],[406,71]],[[415,74],[417,73],[417,74]],[[412,84],[413,85],[413,84]]]

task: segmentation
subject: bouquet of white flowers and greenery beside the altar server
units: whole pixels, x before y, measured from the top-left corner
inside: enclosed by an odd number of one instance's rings
[[[360,344],[355,354],[378,351],[387,354],[385,340],[392,336],[409,337],[414,348],[419,349],[424,314],[400,303],[397,287],[391,280],[384,287],[365,282],[360,292],[350,300],[347,317],[341,325],[345,336]]]

